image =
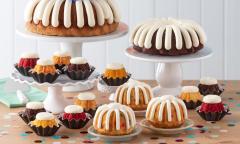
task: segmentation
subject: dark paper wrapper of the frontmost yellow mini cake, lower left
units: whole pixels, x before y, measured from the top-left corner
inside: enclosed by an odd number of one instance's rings
[[[53,126],[51,127],[36,127],[36,126],[30,126],[31,129],[38,135],[38,136],[53,136],[58,129],[61,127],[61,125]]]

